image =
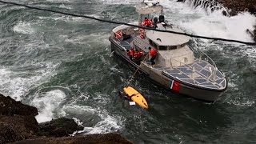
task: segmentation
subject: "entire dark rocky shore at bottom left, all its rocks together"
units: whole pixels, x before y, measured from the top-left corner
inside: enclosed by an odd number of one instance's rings
[[[38,124],[37,108],[0,94],[0,144],[2,143],[132,143],[119,134],[91,134],[69,137],[83,130],[73,119],[58,118]]]

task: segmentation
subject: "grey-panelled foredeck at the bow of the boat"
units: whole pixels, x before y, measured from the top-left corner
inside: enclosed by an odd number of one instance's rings
[[[154,68],[162,70],[162,74],[167,77],[177,78],[191,85],[210,89],[223,89],[226,87],[224,75],[219,70],[216,70],[216,75],[214,76],[214,66],[203,60],[197,59],[192,64],[178,66],[173,69],[163,66],[154,66]]]

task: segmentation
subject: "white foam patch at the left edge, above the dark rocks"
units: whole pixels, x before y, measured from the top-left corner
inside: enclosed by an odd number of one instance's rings
[[[24,64],[25,66],[26,64]],[[53,75],[55,65],[48,63],[30,63],[31,66],[44,67],[44,70],[36,70],[32,76],[25,76],[26,71],[13,71],[12,67],[0,67],[0,91],[5,95],[21,101],[24,95],[38,82]]]

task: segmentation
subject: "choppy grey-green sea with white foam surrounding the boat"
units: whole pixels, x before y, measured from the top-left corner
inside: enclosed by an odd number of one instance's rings
[[[13,2],[136,22],[138,0],[18,0]],[[222,10],[162,1],[166,20],[189,34],[251,42],[246,29],[256,18],[248,13],[222,16]],[[126,106],[118,97],[134,74],[110,54],[114,24],[62,14],[0,5],[0,92],[36,106],[38,122],[74,118],[82,134],[118,132],[134,143],[255,143],[256,49],[231,42],[192,38],[226,74],[222,97],[206,103],[174,94],[136,75],[131,85],[150,109]]]

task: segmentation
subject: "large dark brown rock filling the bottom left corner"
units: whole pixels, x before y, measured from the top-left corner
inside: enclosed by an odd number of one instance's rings
[[[34,138],[38,131],[38,114],[34,106],[26,106],[0,94],[0,143]]]

